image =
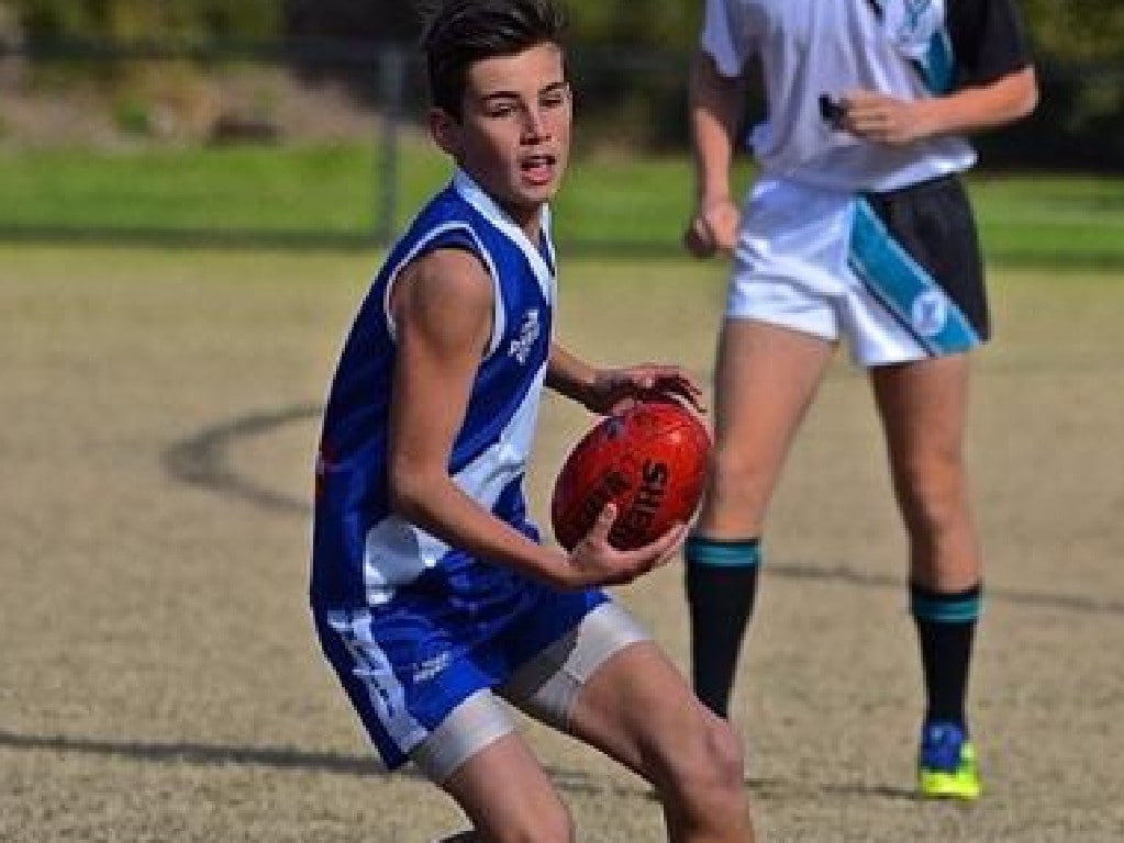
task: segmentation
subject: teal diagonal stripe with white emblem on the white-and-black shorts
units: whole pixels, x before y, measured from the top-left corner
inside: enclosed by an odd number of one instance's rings
[[[957,354],[980,343],[957,303],[890,237],[863,199],[855,200],[847,263],[928,355]]]

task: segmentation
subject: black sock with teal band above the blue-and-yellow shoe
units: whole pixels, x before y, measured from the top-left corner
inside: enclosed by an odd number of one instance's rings
[[[917,626],[927,708],[925,722],[967,727],[964,703],[982,586],[941,594],[909,584],[909,611]]]

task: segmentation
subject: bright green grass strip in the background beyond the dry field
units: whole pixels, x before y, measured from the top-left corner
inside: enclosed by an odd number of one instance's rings
[[[404,140],[397,223],[447,173]],[[377,229],[379,162],[370,146],[0,153],[0,236],[354,241]],[[747,171],[741,172],[741,178]],[[973,174],[989,259],[1022,266],[1124,266],[1124,178]],[[688,212],[686,158],[577,159],[555,203],[561,242],[579,251],[667,255]],[[202,238],[206,240],[206,238]]]

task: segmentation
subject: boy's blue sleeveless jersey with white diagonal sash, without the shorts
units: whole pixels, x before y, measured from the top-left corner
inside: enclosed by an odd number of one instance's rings
[[[492,336],[448,471],[497,517],[538,540],[523,480],[555,297],[547,209],[543,216],[543,242],[536,246],[457,171],[391,249],[360,305],[328,394],[316,469],[314,606],[388,606],[401,599],[471,606],[507,601],[526,585],[514,571],[450,547],[390,508],[387,446],[396,345],[389,302],[401,269],[433,249],[468,249],[487,267],[495,292]]]

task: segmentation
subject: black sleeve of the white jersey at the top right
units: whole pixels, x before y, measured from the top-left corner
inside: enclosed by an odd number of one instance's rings
[[[957,88],[986,85],[1031,64],[1013,0],[949,0],[948,27],[957,57]]]

